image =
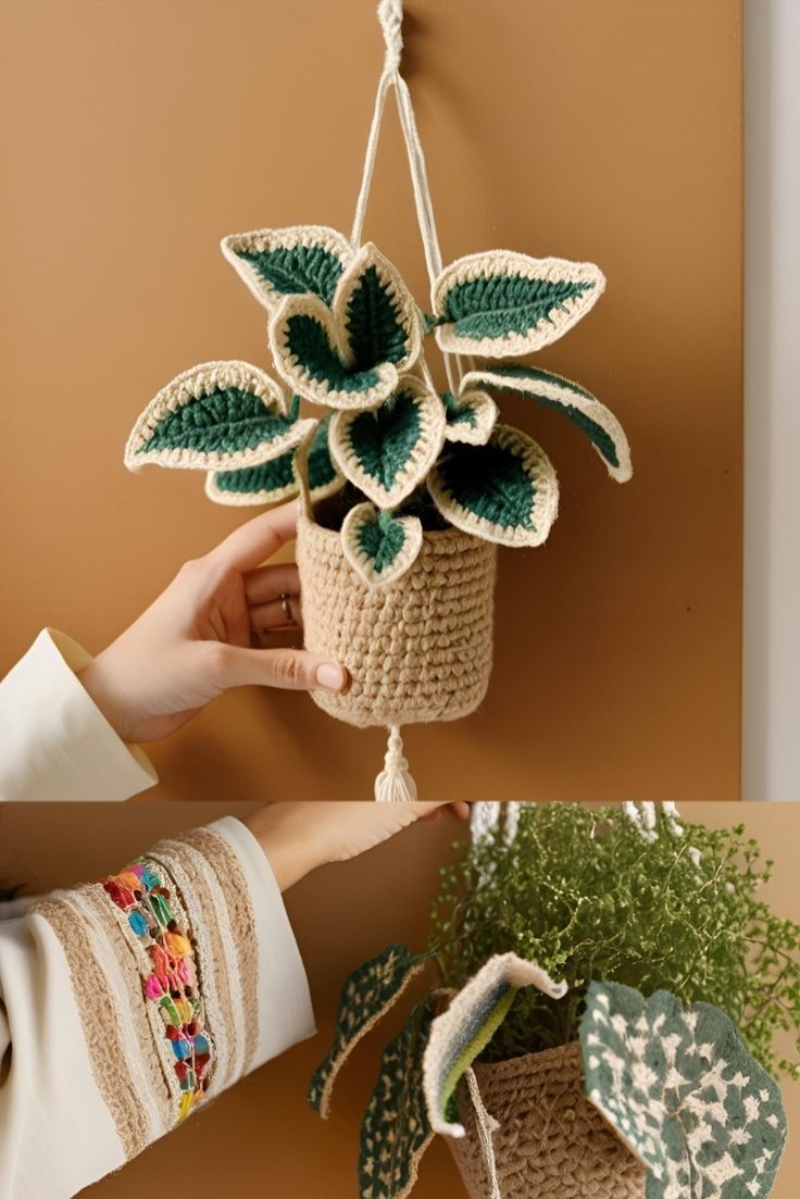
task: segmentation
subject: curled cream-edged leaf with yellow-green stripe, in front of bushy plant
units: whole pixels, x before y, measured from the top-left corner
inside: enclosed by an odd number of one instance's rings
[[[498,953],[462,987],[450,1007],[431,1028],[422,1066],[428,1120],[434,1132],[463,1137],[450,1101],[463,1074],[500,1028],[521,987],[536,987],[552,999],[566,994],[566,983],[557,983],[534,962],[516,953]]]

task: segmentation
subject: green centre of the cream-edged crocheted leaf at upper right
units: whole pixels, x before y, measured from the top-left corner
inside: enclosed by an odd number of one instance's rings
[[[456,283],[445,296],[445,320],[459,337],[476,341],[524,336],[553,308],[590,291],[594,283],[582,279],[530,279],[523,275],[492,275]]]

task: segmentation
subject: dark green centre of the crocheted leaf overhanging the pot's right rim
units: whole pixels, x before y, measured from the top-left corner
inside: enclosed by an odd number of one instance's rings
[[[453,445],[438,464],[456,504],[501,529],[535,531],[530,513],[536,490],[522,459],[495,441]]]

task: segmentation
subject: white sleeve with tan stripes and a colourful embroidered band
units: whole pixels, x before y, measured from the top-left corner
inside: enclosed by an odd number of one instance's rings
[[[0,1199],[70,1199],[313,1032],[278,887],[233,818],[0,918]]]

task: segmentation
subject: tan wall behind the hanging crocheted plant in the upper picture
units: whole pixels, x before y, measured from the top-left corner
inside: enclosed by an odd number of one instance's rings
[[[740,694],[740,0],[409,0],[408,76],[445,259],[596,260],[541,355],[619,414],[618,488],[511,402],[561,480],[546,548],[504,552],[494,685],[419,729],[428,795],[732,800]],[[128,476],[179,370],[265,362],[221,235],[349,229],[381,46],[373,0],[0,5],[0,668],[53,623],[100,649],[240,514]],[[425,301],[393,113],[367,234]],[[235,694],[156,747],[163,799],[368,796],[379,733]]]

